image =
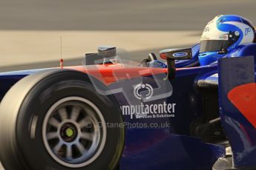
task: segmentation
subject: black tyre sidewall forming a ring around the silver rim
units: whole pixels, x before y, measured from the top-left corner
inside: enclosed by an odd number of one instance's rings
[[[122,115],[114,96],[99,95],[89,79],[80,74],[52,75],[33,87],[27,94],[17,120],[17,145],[30,169],[71,169],[56,163],[45,149],[42,140],[42,124],[47,110],[53,103],[71,96],[91,101],[102,112],[106,123],[122,123]],[[34,138],[31,129],[35,125]],[[33,135],[32,135],[33,136]],[[123,128],[107,128],[105,147],[99,157],[88,166],[77,169],[112,169],[116,165],[123,146]],[[116,157],[116,154],[118,156]],[[115,160],[113,160],[115,159]],[[108,167],[108,168],[107,168]],[[73,168],[72,168],[73,169]]]

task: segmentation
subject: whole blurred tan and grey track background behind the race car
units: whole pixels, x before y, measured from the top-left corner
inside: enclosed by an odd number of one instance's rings
[[[0,72],[58,67],[60,35],[65,65],[81,64],[98,44],[128,49],[141,61],[148,52],[197,43],[220,14],[256,24],[255,7],[255,0],[1,0]]]

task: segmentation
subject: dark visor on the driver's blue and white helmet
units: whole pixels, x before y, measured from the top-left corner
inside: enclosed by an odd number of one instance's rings
[[[200,43],[200,52],[220,51],[229,45],[228,40],[203,40]]]

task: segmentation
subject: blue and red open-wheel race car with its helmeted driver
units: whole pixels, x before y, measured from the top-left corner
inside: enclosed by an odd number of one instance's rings
[[[8,169],[255,169],[255,28],[217,16],[200,44],[129,61],[0,74]]]

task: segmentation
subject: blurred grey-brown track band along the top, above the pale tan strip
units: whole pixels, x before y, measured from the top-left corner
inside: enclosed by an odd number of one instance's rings
[[[256,23],[255,4],[255,0],[1,0],[0,30],[202,30],[220,14],[238,14]]]

